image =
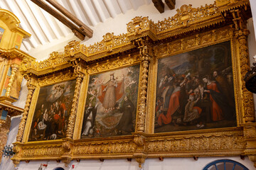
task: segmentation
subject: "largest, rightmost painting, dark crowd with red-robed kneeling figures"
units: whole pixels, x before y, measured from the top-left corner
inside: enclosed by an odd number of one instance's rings
[[[230,41],[159,60],[154,132],[236,126]]]

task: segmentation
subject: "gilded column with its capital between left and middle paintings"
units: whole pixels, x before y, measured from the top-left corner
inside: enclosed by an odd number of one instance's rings
[[[68,120],[68,130],[66,135],[66,137],[69,139],[73,138],[73,133],[75,128],[75,117],[76,117],[77,108],[78,108],[78,98],[80,94],[82,79],[85,77],[85,69],[84,67],[82,67],[82,64],[78,64],[76,60],[73,60],[71,62],[73,64],[73,67],[75,67],[74,72],[76,75],[76,83],[75,83],[75,93],[73,97],[72,108],[71,108],[70,117]]]

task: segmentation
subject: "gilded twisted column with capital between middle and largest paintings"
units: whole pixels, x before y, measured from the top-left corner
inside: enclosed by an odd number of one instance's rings
[[[142,72],[140,75],[141,83],[139,86],[139,107],[137,115],[137,132],[145,132],[145,120],[146,120],[146,97],[147,97],[147,85],[149,77],[149,52],[148,47],[142,39],[137,40],[139,44],[139,54],[142,60]]]

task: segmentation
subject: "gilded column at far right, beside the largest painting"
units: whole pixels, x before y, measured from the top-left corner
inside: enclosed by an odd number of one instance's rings
[[[256,124],[255,111],[252,93],[245,87],[245,74],[250,70],[249,50],[247,45],[247,36],[250,31],[247,30],[245,22],[240,16],[240,10],[230,11],[233,15],[233,22],[235,23],[235,38],[237,40],[237,47],[239,50],[239,66],[240,66],[240,82],[242,90],[242,108],[243,108],[243,135],[245,137],[245,155],[254,163],[256,167]]]

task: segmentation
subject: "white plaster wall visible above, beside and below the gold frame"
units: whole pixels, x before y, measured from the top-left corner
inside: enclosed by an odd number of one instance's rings
[[[252,0],[254,1],[254,0]],[[176,8],[180,8],[183,4],[193,4],[193,7],[198,6],[204,6],[205,4],[213,4],[213,0],[201,0],[201,1],[195,1],[195,0],[178,0],[176,1]],[[126,24],[129,23],[129,21],[132,21],[132,18],[135,16],[149,16],[149,18],[154,21],[161,21],[164,18],[168,18],[169,16],[174,16],[176,13],[176,10],[169,10],[169,8],[165,9],[164,13],[159,13],[153,4],[149,4],[146,6],[141,6],[137,9],[137,11],[130,10],[127,11],[125,14],[120,14],[116,16],[114,19],[110,18],[105,23],[98,24],[95,28],[92,28],[94,30],[93,38],[86,40],[82,43],[85,45],[92,45],[95,42],[99,42],[102,40],[102,35],[105,35],[106,33],[114,33],[114,35],[119,35],[120,33],[126,33],[127,27]],[[250,50],[250,62],[252,63],[252,57],[256,55],[256,42],[255,42],[255,33],[253,29],[253,23],[252,19],[248,21],[248,29],[250,30],[251,34],[248,37],[248,43],[249,43],[249,50]],[[65,43],[66,45],[66,43]],[[33,57],[38,58],[38,60],[43,60],[45,58],[48,58],[48,54],[53,51],[63,51],[64,46],[63,43],[60,45],[55,45],[55,47],[48,47],[48,50],[46,50],[43,47],[42,50],[38,50],[37,52],[33,52]],[[37,55],[38,54],[38,55]],[[46,57],[47,56],[47,57]],[[28,89],[26,88],[26,81],[23,81],[22,83],[22,89],[21,89],[21,96],[19,100],[14,103],[16,106],[19,106],[23,108],[25,106],[26,102],[26,95],[28,93]],[[12,122],[11,131],[9,133],[9,140],[8,143],[15,142],[15,136],[18,132],[18,121],[19,118],[15,119],[15,122]],[[14,125],[13,125],[14,123]],[[15,130],[14,130],[15,129]],[[159,159],[146,159],[143,169],[144,170],[183,170],[183,169],[203,169],[206,164],[209,164],[210,162],[213,162],[217,159],[232,159],[236,162],[240,162],[241,164],[244,164],[247,166],[248,169],[255,169],[253,167],[252,162],[245,157],[245,160],[240,159],[240,157],[199,157],[198,161],[195,161],[193,158],[165,158],[163,162],[159,161]],[[29,162],[28,164],[26,162],[21,162],[19,164],[18,169],[19,170],[37,170],[40,164],[48,164],[48,166],[43,169],[45,170],[51,170],[55,167],[63,167],[65,170],[71,170],[72,165],[75,166],[74,169],[76,170],[82,170],[82,169],[90,169],[90,170],[116,170],[116,169],[122,169],[122,170],[139,170],[137,162],[135,162],[134,159],[132,159],[132,162],[128,162],[126,159],[106,159],[104,162],[100,162],[99,160],[81,160],[80,162],[73,161],[69,164],[69,167],[65,167],[63,163],[57,163],[55,161],[42,161],[42,162]],[[2,164],[0,166],[1,170],[11,170],[14,169],[14,165],[11,163],[9,159],[4,158],[2,161]]]

